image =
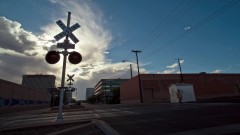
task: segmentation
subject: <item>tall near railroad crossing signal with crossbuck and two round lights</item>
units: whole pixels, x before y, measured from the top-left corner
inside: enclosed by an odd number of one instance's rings
[[[57,25],[63,30],[62,32],[60,32],[59,34],[57,34],[56,36],[54,36],[54,38],[58,41],[61,38],[66,36],[66,39],[64,40],[63,43],[58,43],[57,44],[57,48],[63,48],[64,51],[62,52],[57,52],[57,54],[55,54],[55,52],[48,54],[49,56],[46,57],[46,61],[50,64],[55,64],[58,61],[58,56],[59,54],[63,54],[63,68],[62,68],[62,81],[61,81],[61,91],[60,91],[60,98],[59,98],[59,112],[58,112],[58,116],[56,121],[58,123],[61,123],[63,121],[63,116],[62,116],[62,110],[63,110],[63,95],[64,95],[64,82],[65,82],[65,71],[66,71],[66,58],[69,55],[69,61],[72,64],[78,64],[81,62],[82,60],[82,56],[80,53],[78,52],[68,52],[67,49],[74,49],[75,48],[75,44],[77,42],[79,42],[79,40],[75,37],[75,35],[72,33],[74,30],[78,29],[80,27],[80,25],[78,23],[74,24],[73,26],[69,26],[70,25],[70,18],[71,18],[71,12],[68,12],[68,20],[67,20],[67,26],[61,21],[58,20],[56,23]],[[71,44],[69,43],[68,38],[71,38],[72,41],[75,44]],[[53,55],[55,54],[55,55]],[[70,81],[69,84],[72,84],[71,81],[74,81],[73,78],[74,75],[68,75],[69,79],[67,81]]]

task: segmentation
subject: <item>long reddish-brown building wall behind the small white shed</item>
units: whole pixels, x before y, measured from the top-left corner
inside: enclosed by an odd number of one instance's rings
[[[183,74],[193,84],[197,100],[239,96],[240,74]],[[180,83],[179,74],[142,74],[143,102],[170,102],[168,87]],[[121,85],[121,103],[140,102],[138,77]]]

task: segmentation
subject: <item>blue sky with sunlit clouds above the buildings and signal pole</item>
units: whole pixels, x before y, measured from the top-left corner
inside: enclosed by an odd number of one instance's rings
[[[1,0],[0,78],[53,74],[60,85],[62,58],[50,65],[45,55],[61,51],[53,37],[68,12],[81,25],[73,33],[83,60],[66,71],[78,99],[102,78],[129,78],[131,50],[142,51],[141,73],[179,73],[177,58],[184,73],[240,72],[240,0]]]

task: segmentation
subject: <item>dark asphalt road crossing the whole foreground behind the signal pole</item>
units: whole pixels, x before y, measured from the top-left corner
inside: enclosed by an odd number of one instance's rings
[[[83,105],[88,109],[63,113],[64,122],[101,119],[122,135],[240,134],[239,103]],[[46,110],[0,115],[0,130],[55,123],[56,116]]]

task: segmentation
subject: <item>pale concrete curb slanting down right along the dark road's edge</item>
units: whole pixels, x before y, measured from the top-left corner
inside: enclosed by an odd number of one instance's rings
[[[102,120],[93,120],[93,123],[94,128],[99,130],[99,135],[120,135],[116,130]]]

